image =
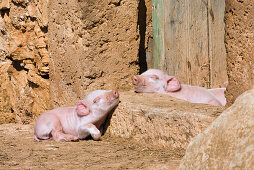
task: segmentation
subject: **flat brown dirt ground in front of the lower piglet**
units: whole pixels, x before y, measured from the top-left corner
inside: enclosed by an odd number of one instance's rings
[[[180,156],[103,136],[101,141],[33,140],[33,125],[0,125],[0,169],[176,169]]]

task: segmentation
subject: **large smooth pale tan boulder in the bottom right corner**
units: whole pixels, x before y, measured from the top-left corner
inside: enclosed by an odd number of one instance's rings
[[[254,89],[189,144],[179,169],[253,169]],[[222,161],[223,160],[223,161]]]

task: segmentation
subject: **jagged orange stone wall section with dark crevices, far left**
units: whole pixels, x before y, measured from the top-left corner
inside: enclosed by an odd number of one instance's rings
[[[28,123],[48,107],[47,0],[2,0],[0,13],[0,123]]]

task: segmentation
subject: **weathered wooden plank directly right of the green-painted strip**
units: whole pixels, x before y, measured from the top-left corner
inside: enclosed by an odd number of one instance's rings
[[[165,8],[165,56],[163,70],[187,83],[188,37],[187,6],[182,0],[164,1]]]

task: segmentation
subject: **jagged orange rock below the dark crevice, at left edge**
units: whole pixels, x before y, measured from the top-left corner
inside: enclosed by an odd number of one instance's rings
[[[13,65],[9,60],[0,64],[1,123],[14,118],[15,122],[29,123],[48,109],[49,82],[34,71],[18,71]]]

